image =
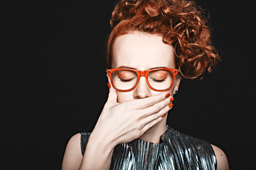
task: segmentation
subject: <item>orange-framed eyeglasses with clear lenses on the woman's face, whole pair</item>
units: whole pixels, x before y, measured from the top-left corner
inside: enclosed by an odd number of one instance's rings
[[[132,91],[139,83],[140,77],[145,77],[146,84],[154,91],[168,91],[174,84],[178,69],[149,69],[145,71],[135,69],[106,69],[107,75],[114,89],[117,91]]]

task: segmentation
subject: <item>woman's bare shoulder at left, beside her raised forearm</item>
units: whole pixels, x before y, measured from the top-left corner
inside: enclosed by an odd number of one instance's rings
[[[68,141],[63,157],[62,170],[65,169],[79,169],[82,162],[82,153],[80,147],[81,134],[73,135]]]

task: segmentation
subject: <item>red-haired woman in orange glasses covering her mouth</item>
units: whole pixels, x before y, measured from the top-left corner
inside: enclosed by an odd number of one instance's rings
[[[92,133],[68,142],[63,169],[228,169],[218,147],[166,125],[181,78],[219,60],[191,1],[120,0],[107,43],[110,93]]]

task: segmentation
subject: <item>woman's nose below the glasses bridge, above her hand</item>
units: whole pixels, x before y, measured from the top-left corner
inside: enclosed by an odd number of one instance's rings
[[[136,88],[134,89],[134,98],[146,98],[151,96],[151,89],[146,84],[145,77],[140,77],[139,83],[137,84]]]

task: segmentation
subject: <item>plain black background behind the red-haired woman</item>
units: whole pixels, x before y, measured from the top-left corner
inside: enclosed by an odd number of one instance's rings
[[[252,169],[255,7],[197,2],[210,13],[222,62],[202,81],[181,81],[168,124],[223,149],[230,169]],[[107,99],[105,44],[114,4],[0,2],[0,169],[60,169],[69,138],[93,129]]]

